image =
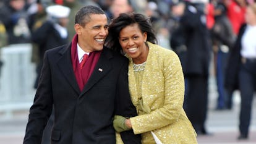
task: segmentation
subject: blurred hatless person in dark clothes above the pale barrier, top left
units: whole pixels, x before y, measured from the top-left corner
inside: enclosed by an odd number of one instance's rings
[[[7,44],[30,43],[30,15],[25,0],[6,1],[0,10],[2,23],[8,35]]]

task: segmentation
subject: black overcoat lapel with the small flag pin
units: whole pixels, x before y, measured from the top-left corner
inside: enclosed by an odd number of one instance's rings
[[[109,51],[103,49],[100,59],[98,60],[92,75],[88,79],[88,82],[85,84],[85,87],[83,88],[80,96],[90,90],[90,88],[92,88],[95,83],[97,83],[102,77],[108,74],[109,70],[111,70],[111,64],[109,62],[111,57],[113,57],[113,55],[109,53]]]

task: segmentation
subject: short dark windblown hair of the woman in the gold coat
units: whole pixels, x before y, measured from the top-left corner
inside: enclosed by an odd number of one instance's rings
[[[114,49],[117,51],[121,50],[121,45],[119,43],[120,31],[123,28],[129,25],[133,25],[135,23],[138,24],[140,31],[142,33],[147,33],[147,41],[150,41],[151,43],[155,44],[158,43],[150,19],[143,14],[129,12],[119,14],[119,17],[112,20],[108,28],[109,34],[105,45],[110,49]]]

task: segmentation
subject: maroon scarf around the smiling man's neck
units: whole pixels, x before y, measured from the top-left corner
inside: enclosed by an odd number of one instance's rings
[[[90,75],[92,75],[92,72],[100,58],[101,51],[91,52],[87,57],[87,61],[85,62],[85,65],[83,66],[82,69],[80,69],[79,59],[77,54],[77,41],[78,41],[78,35],[75,34],[71,44],[71,59],[72,59],[73,70],[75,73],[75,78],[77,79],[77,83],[79,85],[80,91],[82,91],[83,87],[85,87],[85,84],[90,78]]]

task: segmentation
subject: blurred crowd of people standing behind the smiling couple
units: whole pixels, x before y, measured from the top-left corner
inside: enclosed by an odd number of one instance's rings
[[[65,8],[50,9],[53,5]],[[232,109],[233,91],[237,88],[241,90],[239,85],[246,86],[242,89],[244,93],[241,93],[241,96],[244,96],[241,99],[241,114],[246,113],[246,116],[241,115],[240,118],[239,138],[247,138],[256,83],[256,44],[252,42],[252,36],[256,34],[250,34],[251,41],[248,39],[244,42],[243,32],[246,30],[241,32],[241,27],[255,27],[256,23],[249,22],[250,19],[256,19],[255,0],[1,0],[0,48],[8,44],[31,43],[32,62],[36,63],[36,72],[40,75],[43,54],[48,49],[72,40],[75,35],[74,14],[85,5],[101,7],[108,15],[109,22],[122,12],[139,12],[150,17],[159,44],[164,48],[173,49],[181,60],[186,80],[184,109],[198,134],[208,134],[205,121],[210,62],[213,61],[214,64],[218,87],[217,110]],[[248,6],[252,9],[251,17],[247,12]],[[237,43],[240,45],[237,46]],[[238,51],[247,47],[254,50],[251,50],[252,53],[249,50],[249,54],[244,52],[242,55],[236,55],[233,52],[235,46],[240,48]],[[246,50],[248,51],[244,51]],[[235,61],[233,56],[237,56],[239,60]],[[229,76],[233,74],[227,73],[226,69],[231,70],[234,62],[238,65],[241,59],[242,64],[252,61],[253,64],[248,67],[254,69],[249,74],[244,71],[242,74],[234,74],[231,79]],[[0,67],[1,65],[0,63]],[[247,65],[242,70],[246,69]],[[253,82],[242,81],[244,77]],[[248,87],[252,88],[247,90]],[[247,93],[248,91],[252,92]]]

